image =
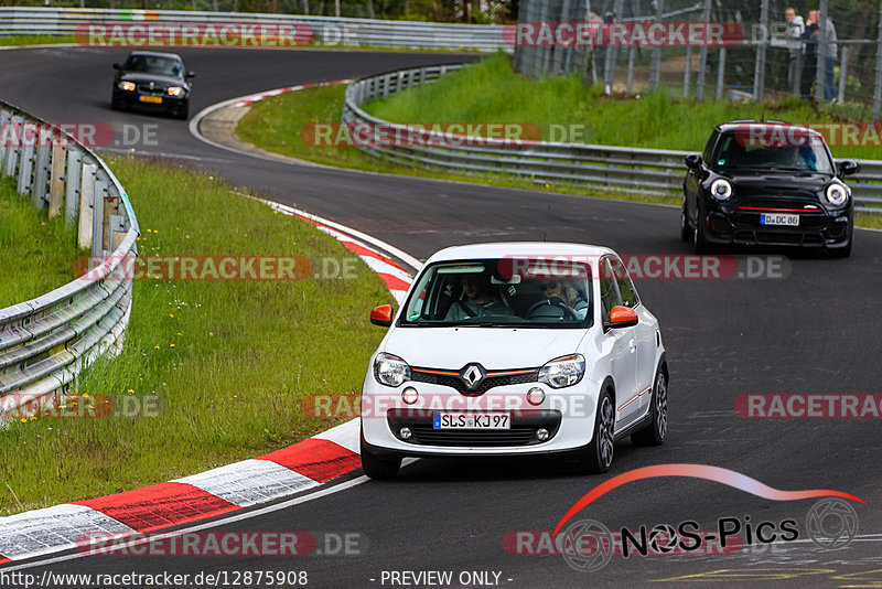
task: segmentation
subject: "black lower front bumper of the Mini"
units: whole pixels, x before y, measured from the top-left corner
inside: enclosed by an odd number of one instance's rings
[[[837,249],[848,246],[852,233],[851,207],[793,211],[798,226],[763,225],[761,215],[788,211],[775,206],[729,206],[711,203],[704,219],[704,238],[716,245],[798,246]]]

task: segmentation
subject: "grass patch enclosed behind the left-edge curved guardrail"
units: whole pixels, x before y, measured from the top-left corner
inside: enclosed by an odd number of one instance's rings
[[[12,180],[0,180],[0,309],[76,278],[78,255],[75,229],[64,228],[64,217],[50,218],[47,210],[15,192]]]

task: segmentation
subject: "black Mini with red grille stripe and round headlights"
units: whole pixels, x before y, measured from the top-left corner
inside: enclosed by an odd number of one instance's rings
[[[686,157],[680,236],[697,253],[717,245],[804,246],[851,254],[853,203],[817,131],[777,121],[718,125],[703,153]]]

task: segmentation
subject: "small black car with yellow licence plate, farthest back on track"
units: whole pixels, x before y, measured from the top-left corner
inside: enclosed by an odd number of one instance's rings
[[[190,79],[184,60],[176,53],[136,51],[121,64],[115,63],[110,108],[137,108],[168,113],[186,119],[190,111]]]

